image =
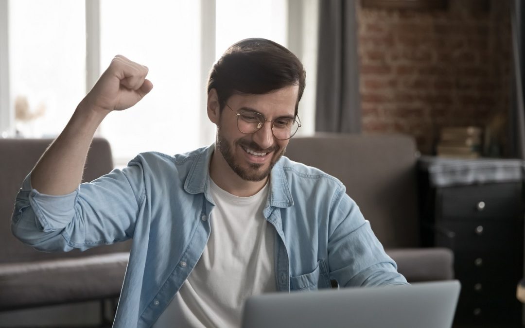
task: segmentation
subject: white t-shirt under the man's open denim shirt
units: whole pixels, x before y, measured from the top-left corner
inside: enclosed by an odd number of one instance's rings
[[[269,183],[254,196],[237,197],[209,182],[216,205],[211,235],[153,328],[238,327],[246,298],[277,291],[274,227],[262,215]]]

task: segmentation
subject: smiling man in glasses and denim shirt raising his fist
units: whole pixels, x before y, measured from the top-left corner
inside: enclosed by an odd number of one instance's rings
[[[210,73],[214,145],[142,153],[79,186],[97,126],[151,91],[147,73],[113,59],[25,179],[12,223],[47,251],[133,238],[114,326],[238,326],[252,294],[406,284],[344,186],[282,156],[305,73],[266,39],[234,44]]]

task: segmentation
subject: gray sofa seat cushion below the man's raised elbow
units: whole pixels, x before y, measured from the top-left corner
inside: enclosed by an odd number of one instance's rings
[[[0,309],[118,297],[128,258],[119,252],[0,264]]]

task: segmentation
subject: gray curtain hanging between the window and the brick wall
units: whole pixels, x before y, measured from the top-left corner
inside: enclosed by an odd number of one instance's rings
[[[319,3],[316,131],[361,132],[355,0]]]

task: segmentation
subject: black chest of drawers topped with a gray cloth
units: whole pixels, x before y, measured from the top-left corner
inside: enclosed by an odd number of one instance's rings
[[[422,157],[419,168],[423,242],[454,251],[455,323],[521,326],[522,162]]]

